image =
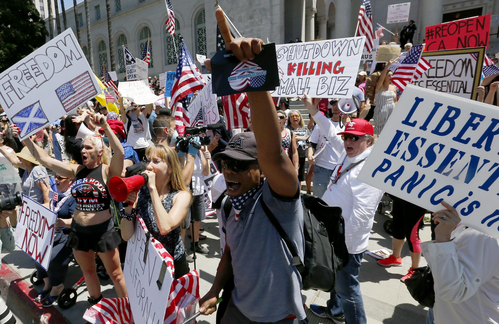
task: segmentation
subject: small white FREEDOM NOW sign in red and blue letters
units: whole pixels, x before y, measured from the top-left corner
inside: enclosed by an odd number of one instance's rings
[[[52,253],[56,219],[56,213],[22,195],[22,207],[15,228],[15,245],[45,270]]]

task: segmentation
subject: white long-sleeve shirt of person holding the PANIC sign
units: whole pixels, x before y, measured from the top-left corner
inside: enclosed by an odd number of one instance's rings
[[[467,228],[421,248],[435,281],[435,323],[499,323],[498,239]]]

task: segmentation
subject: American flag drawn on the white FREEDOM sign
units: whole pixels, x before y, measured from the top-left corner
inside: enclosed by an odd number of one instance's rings
[[[97,96],[99,91],[95,89],[90,73],[84,72],[55,89],[55,93],[64,110],[69,112],[85,102],[88,97]]]

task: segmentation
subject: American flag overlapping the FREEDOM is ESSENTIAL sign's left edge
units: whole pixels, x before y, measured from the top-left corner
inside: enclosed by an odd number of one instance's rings
[[[392,76],[392,83],[404,91],[405,87],[414,80],[417,80],[426,70],[432,66],[421,57],[423,45],[413,46],[409,53],[407,53],[404,61]]]

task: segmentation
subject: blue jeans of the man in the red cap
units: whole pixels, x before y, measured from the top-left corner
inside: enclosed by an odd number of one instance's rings
[[[360,283],[357,280],[362,256],[363,253],[348,254],[348,264],[336,271],[336,287],[331,291],[331,299],[327,301],[331,315],[343,314],[348,324],[367,323]]]

